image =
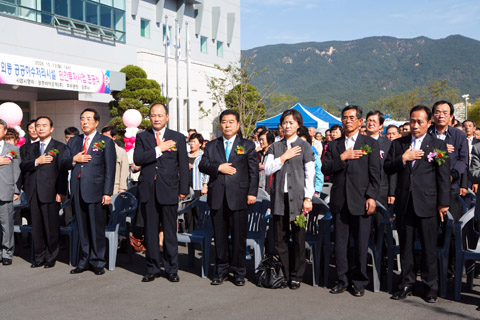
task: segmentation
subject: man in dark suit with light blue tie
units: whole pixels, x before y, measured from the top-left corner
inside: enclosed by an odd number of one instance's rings
[[[219,285],[231,271],[234,284],[245,285],[248,205],[258,193],[258,158],[255,144],[239,135],[240,115],[227,109],[220,114],[222,136],[207,143],[198,168],[210,176],[211,209],[217,254],[217,272],[211,284]],[[229,254],[228,234],[232,237]]]

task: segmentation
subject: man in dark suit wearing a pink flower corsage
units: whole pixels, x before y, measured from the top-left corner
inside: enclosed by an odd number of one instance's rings
[[[425,106],[410,111],[411,134],[393,141],[385,160],[385,171],[397,173],[396,214],[400,230],[402,282],[392,299],[412,294],[416,272],[413,243],[415,231],[422,244],[422,280],[425,301],[437,301],[437,218],[443,222],[450,202],[450,159],[441,163],[439,150],[447,154],[444,141],[427,133],[432,112]]]

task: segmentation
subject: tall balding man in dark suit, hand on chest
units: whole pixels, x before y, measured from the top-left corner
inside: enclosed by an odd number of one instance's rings
[[[145,221],[147,273],[142,282],[160,277],[159,225],[163,225],[162,262],[167,279],[178,282],[177,209],[189,193],[185,137],[166,128],[168,109],[158,103],[150,108],[152,127],[137,135],[133,161],[141,166],[139,201]]]

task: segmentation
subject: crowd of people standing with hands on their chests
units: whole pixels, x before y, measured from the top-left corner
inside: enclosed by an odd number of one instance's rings
[[[270,195],[275,253],[282,262],[282,287],[298,289],[306,265],[305,223],[314,197],[331,183],[329,208],[335,233],[336,283],[332,294],[349,290],[361,297],[369,283],[367,250],[372,227],[380,224],[377,202],[393,208],[400,238],[401,281],[392,299],[412,294],[417,269],[422,271],[425,301],[437,301],[437,229],[447,211],[462,216],[461,196],[480,182],[480,128],[473,120],[459,123],[448,101],[432,108],[416,106],[400,127],[384,128],[384,115],[349,105],[342,125],[322,133],[303,126],[302,115],[286,110],[277,130],[240,130],[240,116],[227,109],[220,116],[221,136],[207,141],[194,129],[188,137],[167,128],[168,108],[151,106],[151,127],[137,134],[126,152],[113,126],[98,128],[100,116],[87,108],[80,130],[65,130],[65,143],[54,140],[53,121],[40,116],[28,123],[30,141],[15,147],[18,135],[0,120],[1,261],[12,264],[14,201],[21,192],[29,203],[34,250],[32,268],[55,266],[59,226],[76,218],[80,256],[72,274],[105,273],[105,225],[112,195],[137,186],[139,210],[133,239],[143,238],[146,272],[142,282],[163,274],[178,275],[178,204],[187,195],[207,195],[214,230],[216,268],[212,285],[230,274],[245,284],[248,206],[258,189]],[[100,130],[99,130],[100,129]],[[101,133],[100,133],[100,132]],[[71,199],[72,212],[60,221],[60,204]],[[478,208],[477,208],[478,209]],[[65,210],[67,213],[67,210]],[[479,210],[477,213],[480,215]],[[184,215],[182,231],[192,232],[198,212]],[[303,222],[302,222],[303,221]],[[422,263],[416,264],[413,243],[420,235]],[[351,250],[351,243],[354,244]],[[449,276],[454,275],[452,240]]]

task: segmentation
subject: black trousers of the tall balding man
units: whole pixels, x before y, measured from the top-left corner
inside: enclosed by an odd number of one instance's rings
[[[165,272],[178,272],[177,209],[178,204],[164,205],[157,201],[156,186],[151,190],[150,199],[142,203],[141,212],[145,222],[145,244],[147,274],[160,272],[160,259]],[[160,254],[158,233],[163,225],[163,253]]]

